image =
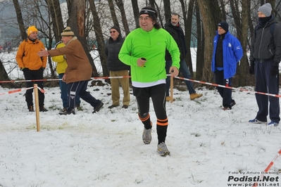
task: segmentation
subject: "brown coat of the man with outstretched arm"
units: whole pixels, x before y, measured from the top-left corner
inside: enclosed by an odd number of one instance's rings
[[[77,37],[73,37],[66,46],[48,51],[50,56],[65,55],[68,67],[65,70],[66,83],[89,80],[92,77],[92,66]]]

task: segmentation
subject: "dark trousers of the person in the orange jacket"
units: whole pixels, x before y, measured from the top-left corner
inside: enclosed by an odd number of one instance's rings
[[[35,79],[43,79],[43,68],[39,70],[29,70],[27,68],[23,69],[23,75],[25,76],[25,80],[35,80]],[[33,84],[37,84],[37,86],[41,89],[44,89],[43,81],[37,82],[26,82],[26,87],[30,88]],[[33,106],[33,97],[32,97],[33,89],[28,89],[25,92],[25,101],[27,103],[27,108]],[[44,99],[45,95],[41,91],[38,90],[38,98],[39,98],[39,107],[44,107]]]

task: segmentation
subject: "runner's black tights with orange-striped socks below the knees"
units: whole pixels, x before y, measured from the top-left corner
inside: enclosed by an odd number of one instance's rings
[[[159,84],[147,88],[133,87],[133,94],[137,99],[139,119],[142,120],[144,128],[146,129],[151,129],[149,115],[149,98],[151,97],[157,117],[156,129],[158,143],[165,143],[168,128],[168,117],[166,114],[166,84]]]

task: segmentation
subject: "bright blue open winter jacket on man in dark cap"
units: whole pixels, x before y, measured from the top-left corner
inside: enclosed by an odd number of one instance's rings
[[[216,72],[216,49],[218,31],[216,32],[216,37],[213,39],[213,59],[212,59],[212,72]],[[237,63],[243,56],[243,49],[240,41],[234,37],[230,32],[225,34],[225,39],[223,40],[223,70],[224,79],[233,77],[236,73]]]

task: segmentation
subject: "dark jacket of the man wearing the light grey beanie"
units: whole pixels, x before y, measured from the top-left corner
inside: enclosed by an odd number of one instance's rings
[[[273,34],[270,32],[270,25],[275,22]],[[274,65],[278,66],[281,60],[281,26],[277,24],[274,16],[266,22],[266,25],[256,25],[255,32],[251,39],[250,61],[256,58],[271,59]]]

